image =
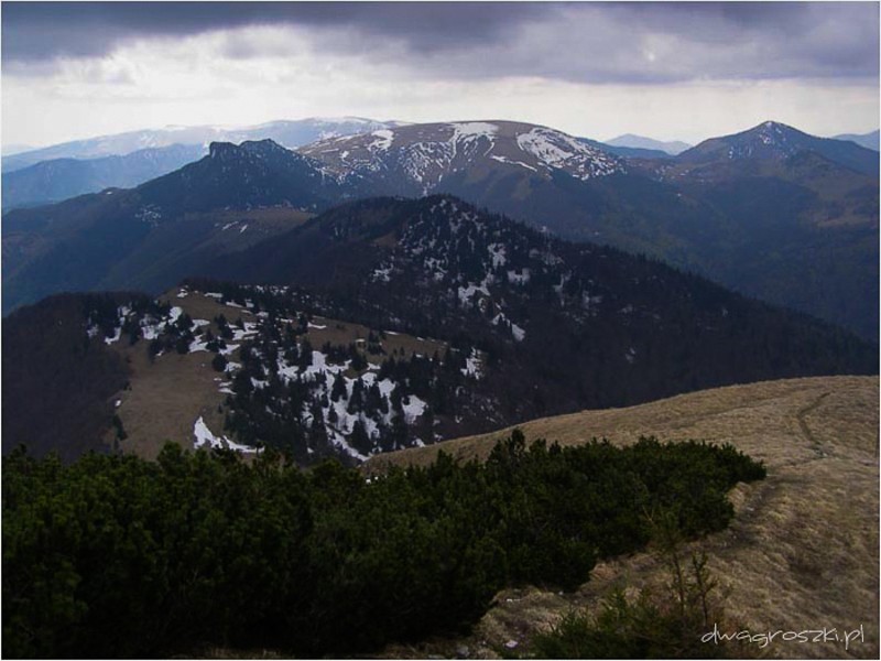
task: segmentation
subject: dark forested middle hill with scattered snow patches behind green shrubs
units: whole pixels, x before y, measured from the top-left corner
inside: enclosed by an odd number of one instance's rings
[[[336,206],[191,272],[210,280],[191,279],[165,303],[63,295],[12,313],[10,442],[51,447],[67,437],[54,422],[65,415],[35,421],[34,405],[79,402],[79,436],[102,438],[117,415],[120,446],[134,449],[143,402],[154,411],[167,400],[173,418],[180,383],[213,366],[226,379],[200,377],[205,394],[176,429],[230,447],[274,445],[307,464],[726,383],[871,373],[878,359],[831,325],[450,196]],[[173,378],[159,387],[163,370]]]

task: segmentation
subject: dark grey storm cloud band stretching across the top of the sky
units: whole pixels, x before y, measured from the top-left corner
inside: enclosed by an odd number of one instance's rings
[[[322,52],[447,78],[853,78],[877,77],[879,62],[873,2],[3,2],[3,68],[36,75],[37,63],[135,39],[284,24],[308,29]],[[222,54],[264,47],[233,33]]]

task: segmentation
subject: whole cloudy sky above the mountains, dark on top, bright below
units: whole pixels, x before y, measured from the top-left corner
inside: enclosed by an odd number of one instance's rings
[[[879,124],[878,2],[10,2],[2,141],[360,116],[698,142]]]

